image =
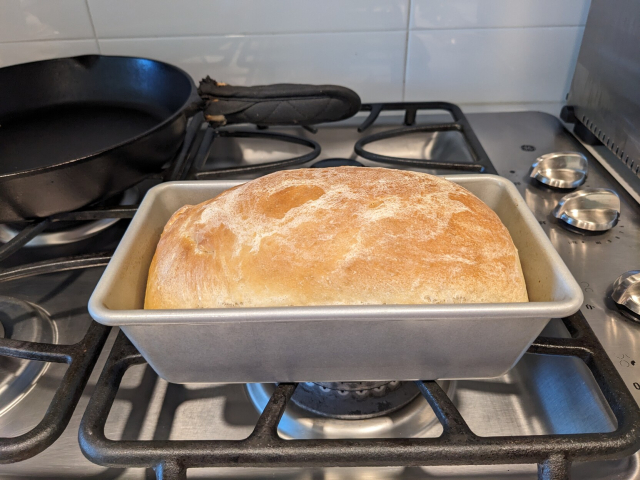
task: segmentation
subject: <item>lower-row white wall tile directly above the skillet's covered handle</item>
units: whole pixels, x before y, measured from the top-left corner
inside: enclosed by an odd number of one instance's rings
[[[107,55],[163,60],[196,80],[226,83],[334,83],[364,101],[402,98],[405,32],[100,40]]]

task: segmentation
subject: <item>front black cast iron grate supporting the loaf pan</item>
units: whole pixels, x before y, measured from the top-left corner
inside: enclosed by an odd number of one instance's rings
[[[110,440],[105,424],[122,377],[142,355],[120,333],[80,425],[84,455],[108,467],[153,468],[158,480],[186,478],[198,467],[354,467],[538,465],[541,480],[568,479],[574,461],[619,459],[640,447],[640,408],[584,316],[563,319],[572,338],[539,337],[528,353],[575,356],[591,370],[618,426],[610,433],[479,437],[434,381],[417,382],[442,423],[439,438],[284,440],[278,423],[296,384],[280,384],[244,440]]]

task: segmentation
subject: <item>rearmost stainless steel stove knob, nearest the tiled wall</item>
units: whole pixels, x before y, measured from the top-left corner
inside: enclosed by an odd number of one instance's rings
[[[547,153],[538,157],[530,176],[553,188],[577,188],[585,182],[588,166],[579,152]]]

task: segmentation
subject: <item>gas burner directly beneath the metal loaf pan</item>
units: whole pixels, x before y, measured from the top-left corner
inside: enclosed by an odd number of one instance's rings
[[[452,398],[455,382],[439,383]],[[264,410],[275,388],[273,383],[247,385],[249,398],[258,411]],[[281,436],[286,438],[424,437],[430,436],[432,430],[434,435],[437,434],[438,420],[413,382],[301,383],[291,400],[292,404],[287,407],[278,427]],[[302,407],[301,401],[312,403]],[[392,402],[395,402],[395,408],[390,405]],[[344,413],[356,403],[361,405],[359,412]],[[382,411],[373,413],[380,405]],[[339,416],[326,413],[340,408],[343,414]],[[318,413],[317,410],[323,412]],[[363,414],[367,410],[371,413]]]

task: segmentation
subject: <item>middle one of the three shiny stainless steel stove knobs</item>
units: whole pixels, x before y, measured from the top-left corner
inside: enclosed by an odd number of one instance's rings
[[[580,230],[604,232],[618,223],[620,198],[613,190],[586,188],[562,197],[553,216]]]

